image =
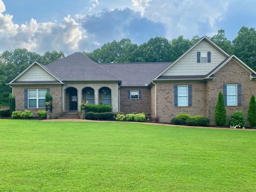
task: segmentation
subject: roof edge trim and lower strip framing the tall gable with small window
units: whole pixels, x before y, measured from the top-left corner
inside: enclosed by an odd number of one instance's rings
[[[218,45],[216,45],[212,40],[210,40],[207,36],[203,36],[200,40],[198,40],[198,42],[196,42],[196,44],[194,44],[189,50],[187,50],[184,54],[182,54],[176,61],[173,62],[173,64],[171,66],[169,66],[168,68],[166,68],[166,70],[164,70],[162,73],[160,73],[155,79],[158,79],[160,76],[162,76],[164,74],[164,72],[166,72],[168,69],[170,69],[172,66],[174,66],[176,63],[178,63],[188,52],[190,52],[192,49],[194,49],[198,44],[200,44],[202,41],[206,41],[208,42],[211,46],[213,46],[216,50],[218,50],[218,52],[220,52],[221,54],[223,54],[225,57],[229,57],[229,55],[222,50]],[[202,75],[206,75],[206,74],[198,74],[195,75],[195,77],[197,78],[202,78]],[[188,75],[187,75],[188,76]],[[199,77],[200,76],[200,77]],[[167,76],[164,76],[167,78]],[[176,76],[177,78],[178,76]],[[161,77],[163,79],[163,77]],[[168,77],[171,78],[171,77]],[[179,76],[178,78],[185,78],[181,76]]]

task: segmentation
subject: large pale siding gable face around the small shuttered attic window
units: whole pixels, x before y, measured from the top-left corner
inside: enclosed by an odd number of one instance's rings
[[[197,62],[197,52],[211,52],[210,62]],[[226,56],[206,40],[202,40],[173,66],[166,70],[162,76],[172,75],[206,75],[220,64]]]

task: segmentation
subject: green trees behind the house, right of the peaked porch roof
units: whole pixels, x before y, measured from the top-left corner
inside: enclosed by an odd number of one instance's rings
[[[174,62],[200,37],[194,36],[192,40],[183,36],[168,40],[162,37],[151,38],[141,45],[133,44],[130,39],[122,39],[104,44],[92,52],[83,52],[86,56],[98,63],[114,62]],[[252,69],[256,70],[256,31],[254,28],[243,26],[238,36],[230,41],[226,38],[223,29],[210,37],[220,48],[228,54],[236,55]]]

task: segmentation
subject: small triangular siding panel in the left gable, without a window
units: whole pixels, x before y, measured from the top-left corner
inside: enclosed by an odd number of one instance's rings
[[[16,81],[56,81],[56,78],[40,66],[34,65]]]

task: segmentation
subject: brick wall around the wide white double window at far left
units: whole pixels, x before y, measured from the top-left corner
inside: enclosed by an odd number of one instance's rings
[[[52,94],[52,114],[56,114],[62,111],[61,107],[61,86],[13,86],[13,94],[15,96],[16,111],[24,112],[24,110],[30,110],[34,116],[38,110],[45,110],[45,108],[24,108],[24,88],[27,89],[46,89],[50,88]]]

